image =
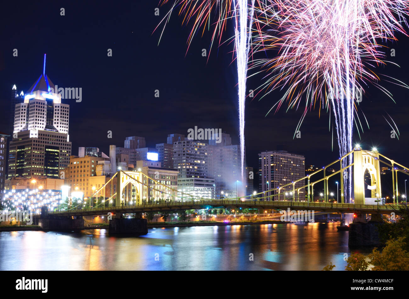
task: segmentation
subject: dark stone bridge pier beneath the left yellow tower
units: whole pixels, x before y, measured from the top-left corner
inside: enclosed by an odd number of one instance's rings
[[[136,213],[135,218],[123,218],[122,213],[115,214],[109,221],[108,234],[143,235],[148,233],[148,219],[142,218],[142,213]]]

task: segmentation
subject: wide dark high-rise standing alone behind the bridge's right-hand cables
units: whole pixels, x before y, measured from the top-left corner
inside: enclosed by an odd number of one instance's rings
[[[291,185],[292,182],[305,176],[305,157],[292,154],[287,151],[265,151],[258,154],[258,182],[259,191],[265,192],[265,196],[278,194],[277,191],[267,192],[274,188],[290,184],[280,190],[284,193],[281,196],[274,196],[275,200],[293,198],[295,200],[305,200],[305,190],[301,188],[304,181],[299,181]],[[294,191],[293,191],[294,190]],[[285,195],[285,192],[288,195]],[[293,193],[294,192],[294,193]]]

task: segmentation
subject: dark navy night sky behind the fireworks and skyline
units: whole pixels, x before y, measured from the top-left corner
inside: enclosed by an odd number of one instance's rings
[[[10,5],[7,7],[7,5]],[[60,16],[60,8],[65,16]],[[43,71],[43,55],[47,53],[46,74],[59,87],[82,87],[82,102],[70,104],[70,141],[72,154],[79,146],[96,146],[108,153],[109,145],[124,146],[126,136],[144,136],[147,146],[166,143],[167,134],[187,134],[187,129],[221,128],[238,143],[238,103],[236,64],[231,62],[233,45],[214,47],[207,57],[202,49],[209,47],[210,37],[196,36],[187,50],[189,28],[172,15],[158,45],[160,31],[156,25],[169,5],[154,15],[155,0],[130,2],[55,1],[2,4],[0,50],[0,131],[9,126],[10,93],[13,84],[24,92]],[[233,27],[225,37],[233,34]],[[389,42],[396,49],[388,60],[400,65],[380,67],[378,73],[409,83],[409,38],[398,36]],[[112,49],[112,57],[107,49]],[[13,57],[18,49],[18,57]],[[247,80],[247,90],[256,89],[261,76]],[[364,132],[354,132],[356,143],[364,149],[373,146],[403,165],[407,158],[408,89],[385,81],[396,103],[375,87],[365,89],[359,109]],[[160,97],[154,97],[159,89]],[[245,111],[245,144],[247,163],[258,167],[257,153],[276,150],[284,145],[289,152],[306,156],[306,165],[321,167],[338,158],[337,142],[332,151],[328,130],[329,114],[318,109],[305,118],[301,138],[293,139],[302,110],[276,114],[267,111],[280,98],[271,93],[262,100],[248,99]],[[302,107],[301,107],[302,108]],[[384,120],[387,113],[398,126],[400,136],[390,138],[391,127]],[[107,131],[112,131],[112,139]],[[334,129],[335,138],[335,129]],[[402,178],[403,180],[403,178]]]

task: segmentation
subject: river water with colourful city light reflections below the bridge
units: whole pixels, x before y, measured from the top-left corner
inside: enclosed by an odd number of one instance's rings
[[[151,228],[127,238],[99,229],[0,232],[0,270],[322,270],[330,262],[344,270],[348,232],[337,225]]]

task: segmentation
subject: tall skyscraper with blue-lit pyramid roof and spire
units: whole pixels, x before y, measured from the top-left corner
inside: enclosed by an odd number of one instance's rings
[[[13,138],[9,151],[9,179],[48,176],[57,178],[69,165],[68,135],[70,105],[61,94],[50,92],[54,84],[43,74],[30,87],[24,102],[16,104]]]

